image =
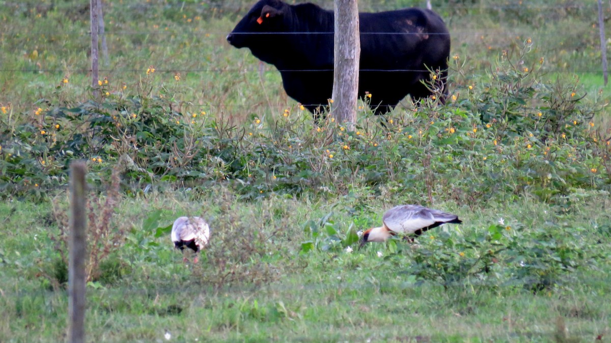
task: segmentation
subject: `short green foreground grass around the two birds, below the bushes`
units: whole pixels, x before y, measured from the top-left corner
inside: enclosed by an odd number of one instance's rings
[[[609,200],[597,195],[588,200],[589,204],[571,208],[570,214],[529,199],[477,211],[439,204],[457,213],[464,225],[442,227],[431,235],[481,234],[503,217],[514,228],[554,227],[549,222],[580,228],[580,239],[604,240],[601,249],[608,250],[611,223],[609,215],[599,209],[608,208]],[[608,260],[596,261],[596,267],[584,265],[576,270],[576,278],[561,278],[557,286],[536,295],[521,284],[480,284],[477,280],[444,289],[436,283],[421,283],[409,273],[414,258],[430,247],[428,236],[415,246],[398,242],[399,253],[392,253],[387,244],[370,244],[353,253],[342,248],[300,253],[301,242],[309,239],[302,228],[304,222],[318,220],[332,210],[328,220],[339,229],[376,222],[378,208],[383,207],[378,201],[370,204],[367,213],[371,214],[354,216],[342,211],[351,204],[341,200],[223,201],[227,200],[185,201],[167,194],[122,201],[118,215],[124,225],[133,228],[135,241],[126,242],[118,256],[130,264],[131,273],[112,284],[88,287],[89,339],[156,341],[167,329],[180,341],[405,341],[417,337],[431,341],[552,341],[558,318],[568,328],[569,337],[579,341],[609,330]],[[169,235],[153,237],[142,229],[152,212],[161,211],[159,225],[165,226],[175,216],[194,211],[212,218],[217,234],[214,244],[219,234],[232,229],[215,226],[227,209],[238,212],[241,223],[235,229],[250,226],[272,237],[258,253],[276,268],[274,280],[253,286],[244,275],[244,280],[214,288],[200,275],[218,268],[215,261],[204,258],[199,265],[185,265],[180,253],[173,251]],[[43,278],[36,276],[39,260],[53,255],[47,235],[56,228],[45,225],[47,212],[44,205],[27,203],[0,207],[0,216],[10,214],[11,218],[0,235],[4,242],[0,303],[5,313],[0,330],[10,341],[56,341],[65,334],[67,295],[45,290]],[[24,229],[7,229],[17,225]],[[34,249],[24,247],[24,236],[34,235]],[[439,249],[452,251],[451,247]],[[377,251],[386,257],[379,258]],[[240,251],[233,253],[240,255]]]

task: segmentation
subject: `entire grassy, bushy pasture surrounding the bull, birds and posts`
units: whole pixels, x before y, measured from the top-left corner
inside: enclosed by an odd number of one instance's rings
[[[88,341],[609,340],[595,4],[433,2],[452,101],[406,99],[383,123],[364,106],[355,132],[314,125],[225,42],[250,2],[105,5],[97,101],[86,5],[0,1],[0,342],[66,338],[76,158],[95,214]],[[405,5],[422,4],[359,2]],[[403,203],[463,224],[357,250]],[[213,229],[199,264],[170,242],[180,215]]]

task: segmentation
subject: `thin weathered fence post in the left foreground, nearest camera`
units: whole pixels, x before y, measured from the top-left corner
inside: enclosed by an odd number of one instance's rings
[[[87,255],[86,166],[70,165],[70,258],[68,261],[68,342],[85,341],[85,261]]]

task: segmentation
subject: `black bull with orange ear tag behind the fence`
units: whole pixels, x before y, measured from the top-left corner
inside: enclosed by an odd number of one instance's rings
[[[359,96],[371,94],[376,114],[392,110],[406,95],[431,96],[424,83],[447,95],[450,35],[431,10],[359,13]],[[287,95],[316,113],[331,98],[334,13],[315,4],[261,0],[227,35],[280,71]],[[439,76],[432,81],[432,70]],[[424,82],[423,82],[424,81]]]

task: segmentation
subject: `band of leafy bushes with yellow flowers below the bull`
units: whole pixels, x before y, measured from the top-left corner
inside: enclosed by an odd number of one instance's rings
[[[455,56],[456,87],[446,105],[427,100],[381,120],[363,103],[351,132],[332,115],[314,125],[300,105],[243,124],[182,112],[172,93],[178,85],[156,87],[152,68],[137,95],[102,82],[101,101],[71,104],[60,85],[49,101],[57,106],[2,122],[0,187],[8,197],[44,197],[65,186],[78,158],[89,161],[93,181],[122,159],[130,191],[164,182],[205,191],[221,182],[251,200],[357,186],[387,196],[420,190],[413,201],[475,206],[525,193],[558,201],[572,189],[609,189],[609,141],[591,121],[598,104],[576,81],[545,81],[530,45],[503,52],[481,84],[461,76],[464,63]]]

